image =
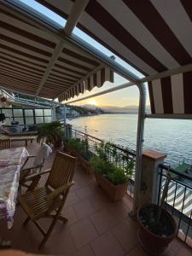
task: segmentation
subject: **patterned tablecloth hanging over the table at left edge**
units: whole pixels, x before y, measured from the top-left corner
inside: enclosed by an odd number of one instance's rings
[[[24,147],[0,150],[0,219],[7,221],[9,229],[14,223],[20,167],[28,155]]]

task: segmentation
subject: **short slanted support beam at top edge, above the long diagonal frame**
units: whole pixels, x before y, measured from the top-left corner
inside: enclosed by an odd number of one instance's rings
[[[78,20],[83,14],[84,9],[89,3],[89,1],[90,0],[79,0],[79,1],[75,1],[75,3],[73,4],[73,8],[71,10],[70,15],[68,16],[67,23],[64,28],[64,32],[67,35],[70,35],[73,32],[73,28],[78,23]]]

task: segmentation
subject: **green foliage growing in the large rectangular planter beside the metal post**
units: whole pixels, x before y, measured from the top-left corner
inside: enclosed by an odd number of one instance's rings
[[[134,162],[129,160],[124,168],[115,166],[114,163],[109,161],[109,151],[113,156],[114,162],[119,160],[119,154],[117,149],[111,149],[111,146],[111,143],[100,143],[96,146],[97,155],[90,160],[94,172],[108,178],[113,185],[128,183],[134,168]]]

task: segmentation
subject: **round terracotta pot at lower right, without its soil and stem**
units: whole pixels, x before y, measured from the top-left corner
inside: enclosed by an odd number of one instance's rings
[[[156,208],[158,210],[159,206],[157,205],[151,205],[152,207]],[[137,220],[139,225],[139,231],[138,231],[138,238],[141,244],[143,245],[144,249],[148,251],[148,253],[154,254],[154,255],[162,255],[163,253],[166,253],[166,250],[168,248],[169,243],[177,236],[177,224],[175,219],[172,217],[172,215],[167,212],[165,209],[162,209],[161,214],[163,214],[164,218],[167,218],[167,222],[170,224],[170,227],[172,229],[172,234],[169,236],[158,236],[152,233],[150,230],[146,228],[146,226],[141,221],[141,210],[140,208],[137,211]]]

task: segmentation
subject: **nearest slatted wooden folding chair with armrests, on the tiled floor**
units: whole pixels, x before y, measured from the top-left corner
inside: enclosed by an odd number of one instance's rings
[[[38,227],[38,230],[44,235],[39,249],[43,248],[45,242],[48,241],[57,220],[61,220],[63,224],[67,222],[67,218],[61,216],[61,210],[67,199],[68,191],[73,185],[76,161],[76,158],[73,156],[57,151],[50,170],[28,177],[32,179],[32,177],[38,177],[49,172],[49,177],[44,187],[26,192],[25,195],[20,195],[18,198],[20,206],[27,215],[24,225],[29,220],[32,220]],[[47,232],[38,224],[39,218],[53,218]]]

